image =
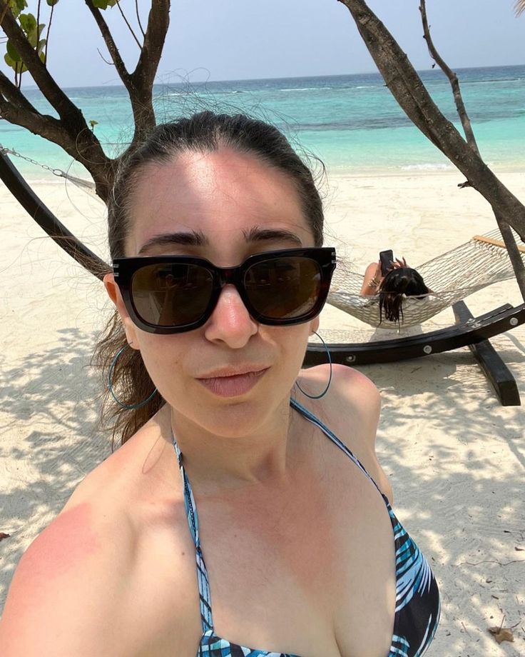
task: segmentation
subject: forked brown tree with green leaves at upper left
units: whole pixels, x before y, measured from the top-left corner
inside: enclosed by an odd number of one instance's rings
[[[153,81],[168,31],[170,0],[151,2],[146,30],[142,29],[138,15],[138,0],[136,0],[140,39],[123,12],[121,0],[85,0],[85,2],[86,10],[91,14],[106,44],[111,63],[115,66],[129,94],[135,131],[128,149],[133,149],[156,123],[153,111]],[[34,16],[24,11],[27,8],[26,0],[0,0],[0,27],[7,38],[4,59],[14,70],[15,76],[13,82],[0,71],[0,117],[61,146],[88,169],[95,182],[96,193],[106,201],[120,157],[111,159],[104,153],[93,125],[86,123],[81,109],[68,99],[53,79],[46,62],[53,11],[58,0],[46,0],[46,4],[50,7],[50,15],[44,38],[42,35],[46,25],[40,23],[43,4],[43,0],[37,1],[36,16]],[[126,22],[140,49],[136,67],[131,72],[126,69],[118,46],[103,17],[103,11],[112,7],[120,11],[123,21]],[[26,71],[56,111],[58,118],[41,114],[24,95],[20,83],[21,76]]]

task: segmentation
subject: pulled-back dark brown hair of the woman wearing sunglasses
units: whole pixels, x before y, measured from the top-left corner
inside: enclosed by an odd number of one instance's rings
[[[209,153],[219,146],[257,156],[288,178],[295,185],[302,211],[310,225],[315,246],[322,246],[322,200],[312,171],[295,153],[286,137],[275,126],[243,114],[214,114],[203,111],[188,118],[157,126],[119,165],[113,192],[108,201],[108,239],[111,258],[121,258],[126,239],[132,229],[133,188],[145,166],[163,164],[187,151]],[[93,361],[105,376],[118,349],[126,345],[126,334],[118,317],[113,314],[96,345]],[[146,371],[141,353],[126,349],[113,368],[113,389],[123,403],[133,406],[148,398],[153,383]],[[103,418],[113,422],[113,440],[121,443],[131,438],[164,403],[157,393],[152,401],[136,411],[128,411],[106,393]],[[106,412],[107,411],[107,412]]]

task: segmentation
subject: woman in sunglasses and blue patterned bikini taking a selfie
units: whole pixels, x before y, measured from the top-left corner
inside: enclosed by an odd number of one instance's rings
[[[108,221],[100,353],[134,410],[21,559],[3,656],[422,654],[439,596],[389,506],[377,389],[300,371],[334,266],[310,171],[204,112],[123,164]]]

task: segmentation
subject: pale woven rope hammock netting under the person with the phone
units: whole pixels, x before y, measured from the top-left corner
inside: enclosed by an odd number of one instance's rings
[[[516,234],[515,237],[525,263],[524,243]],[[344,260],[337,263],[328,303],[375,328],[397,330],[400,326],[422,324],[469,294],[514,277],[498,230],[474,236],[456,249],[420,265],[417,271],[432,293],[417,299],[404,297],[400,324],[379,321],[379,295],[361,296],[363,276],[351,271]]]

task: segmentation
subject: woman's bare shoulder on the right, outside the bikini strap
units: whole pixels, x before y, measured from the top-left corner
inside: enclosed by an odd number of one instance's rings
[[[320,365],[303,371],[301,381],[305,381],[309,393],[315,394],[317,390],[322,391],[329,376],[330,366]],[[375,450],[381,396],[374,383],[351,367],[333,364],[330,392],[319,401],[312,402],[310,408],[326,419],[330,429],[359,458],[392,502],[392,486],[379,465]]]

